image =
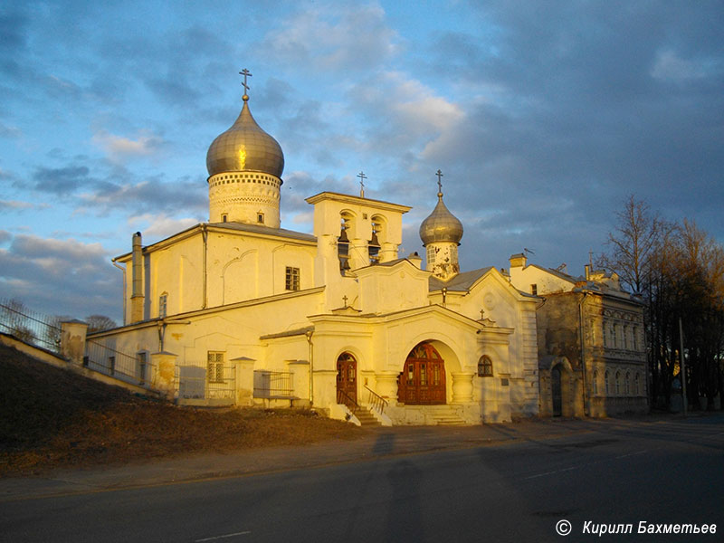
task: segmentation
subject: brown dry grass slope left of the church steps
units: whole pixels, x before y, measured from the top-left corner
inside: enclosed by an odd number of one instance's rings
[[[208,410],[149,400],[4,346],[0,413],[0,475],[362,434],[308,410]]]

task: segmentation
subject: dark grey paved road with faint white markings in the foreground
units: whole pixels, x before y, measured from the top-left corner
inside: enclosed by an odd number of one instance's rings
[[[370,437],[369,457],[354,462],[127,490],[11,496],[0,503],[0,539],[598,540],[582,533],[590,521],[588,530],[633,526],[633,534],[604,536],[608,540],[724,540],[724,416],[582,421],[565,428],[482,445],[470,438],[477,431],[467,429],[454,434],[463,436],[454,447],[450,431],[441,430],[441,450],[429,452],[411,443],[434,447],[434,429],[382,429]],[[496,431],[505,434],[510,427]],[[561,519],[571,523],[567,537],[556,533]],[[717,533],[638,535],[641,521],[716,524]]]

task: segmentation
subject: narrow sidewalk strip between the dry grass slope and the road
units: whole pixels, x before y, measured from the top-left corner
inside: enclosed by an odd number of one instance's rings
[[[653,419],[652,419],[653,422]],[[319,467],[342,462],[524,441],[555,440],[595,432],[622,420],[535,420],[477,426],[395,426],[363,429],[359,439],[296,447],[200,454],[123,466],[62,470],[43,477],[0,480],[0,501],[111,491],[182,481]]]

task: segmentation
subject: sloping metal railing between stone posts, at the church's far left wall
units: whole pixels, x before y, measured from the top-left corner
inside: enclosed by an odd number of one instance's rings
[[[86,341],[85,349],[83,366],[133,385],[147,388],[151,385],[155,367],[148,353],[129,355],[92,339]]]

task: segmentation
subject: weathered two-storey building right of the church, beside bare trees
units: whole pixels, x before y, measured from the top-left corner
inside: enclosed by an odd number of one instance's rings
[[[510,281],[543,297],[538,307],[542,416],[648,412],[643,304],[615,273],[572,277],[510,257]]]

